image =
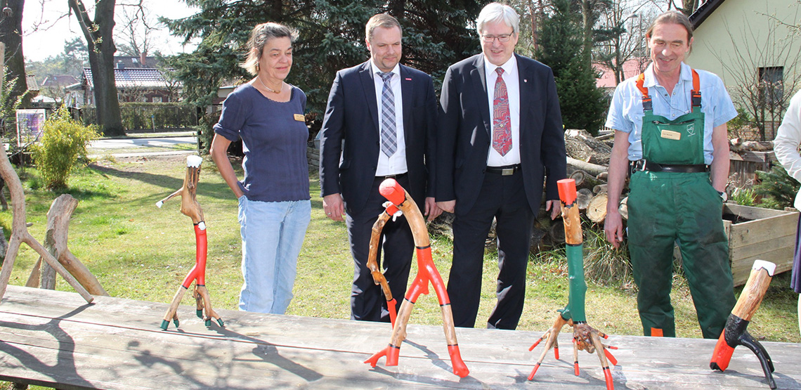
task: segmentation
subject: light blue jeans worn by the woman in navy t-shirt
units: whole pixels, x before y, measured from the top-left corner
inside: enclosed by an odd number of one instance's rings
[[[239,198],[242,276],[239,310],[284,314],[292,301],[297,259],[312,219],[309,200]]]

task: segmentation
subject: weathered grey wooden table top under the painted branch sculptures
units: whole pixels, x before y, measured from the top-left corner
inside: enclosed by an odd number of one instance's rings
[[[9,286],[0,304],[0,380],[61,389],[264,388],[605,388],[598,358],[580,352],[573,375],[570,336],[526,380],[541,332],[457,328],[470,375],[451,372],[437,326],[409,325],[400,364],[362,362],[387,344],[388,324],[220,311],[209,328],[179,308],[181,328],[159,328],[167,304]],[[414,319],[414,317],[413,317]],[[714,340],[610,336],[615,388],[765,388],[759,363],[739,347],[727,372],[709,360]],[[763,343],[779,388],[801,389],[801,344]],[[384,360],[381,360],[381,364]]]

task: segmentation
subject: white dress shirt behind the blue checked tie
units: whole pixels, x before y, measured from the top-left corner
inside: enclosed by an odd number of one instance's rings
[[[384,79],[381,78],[378,72],[378,66],[370,61],[372,68],[372,81],[376,86],[376,104],[378,105],[378,136],[381,138],[381,124],[382,111],[381,108],[381,91],[384,90]],[[382,72],[383,73],[383,72]],[[400,65],[395,65],[392,69],[392,78],[389,79],[389,85],[392,86],[392,94],[395,97],[395,132],[397,139],[397,150],[391,156],[384,155],[383,151],[378,151],[378,167],[376,167],[376,176],[386,175],[400,175],[406,173],[406,142],[404,139],[403,129],[403,99],[400,96]],[[383,141],[383,139],[380,139]]]

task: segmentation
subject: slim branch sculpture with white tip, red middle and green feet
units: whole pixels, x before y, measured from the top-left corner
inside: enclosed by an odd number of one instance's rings
[[[208,296],[206,289],[206,223],[203,222],[203,210],[200,209],[200,204],[197,201],[197,186],[200,178],[200,163],[203,163],[203,158],[197,155],[187,157],[187,175],[183,179],[183,187],[178,191],[173,192],[167,198],[159,200],[155,203],[157,207],[161,207],[164,202],[172,199],[175,195],[181,197],[181,214],[186,215],[192,219],[192,224],[195,225],[195,267],[183,279],[183,283],[178,287],[175,296],[172,298],[172,304],[164,314],[164,319],[161,321],[161,328],[167,330],[170,326],[170,320],[178,328],[178,305],[183,299],[183,294],[187,292],[189,286],[194,281],[195,290],[192,291],[192,296],[195,297],[195,304],[197,311],[195,312],[199,318],[206,321],[206,326],[211,326],[211,319],[217,320],[219,326],[223,326],[223,319],[211,308],[211,299]]]

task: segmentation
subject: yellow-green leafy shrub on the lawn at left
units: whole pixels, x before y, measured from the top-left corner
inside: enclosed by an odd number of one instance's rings
[[[42,139],[32,147],[34,163],[47,188],[66,187],[75,163],[86,159],[87,145],[99,137],[98,129],[72,119],[62,107],[45,121],[42,132]]]

